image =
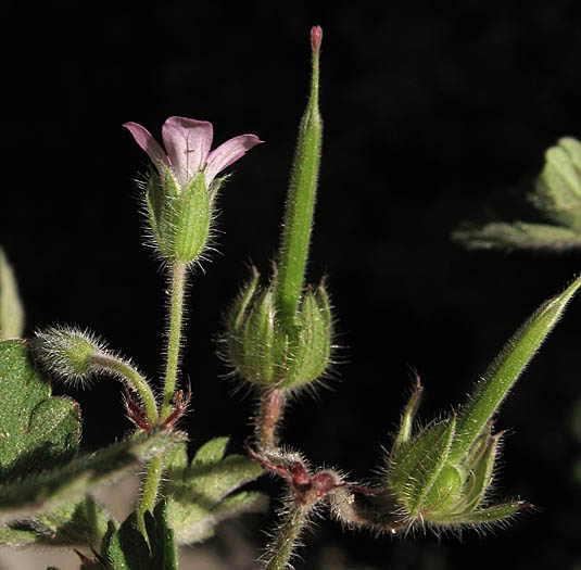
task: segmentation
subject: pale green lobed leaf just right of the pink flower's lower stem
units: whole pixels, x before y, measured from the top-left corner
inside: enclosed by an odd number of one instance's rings
[[[222,520],[263,511],[268,504],[262,493],[231,494],[264,470],[249,457],[225,457],[227,444],[228,438],[215,438],[200,447],[189,467],[168,467],[165,492],[175,499],[170,515],[178,544],[201,542],[213,535]]]

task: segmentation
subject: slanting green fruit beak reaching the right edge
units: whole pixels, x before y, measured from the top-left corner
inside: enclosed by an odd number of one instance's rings
[[[459,461],[476,442],[488,421],[553,330],[567,303],[581,284],[576,279],[565,291],[550,299],[517,330],[477,382],[467,403],[460,408],[456,438],[450,459]]]

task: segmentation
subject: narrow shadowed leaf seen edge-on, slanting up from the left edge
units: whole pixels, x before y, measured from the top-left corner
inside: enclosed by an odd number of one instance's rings
[[[8,522],[30,512],[52,510],[83,496],[94,485],[111,481],[152,457],[164,454],[185,435],[157,428],[131,440],[115,443],[67,465],[38,471],[0,486],[0,521]]]

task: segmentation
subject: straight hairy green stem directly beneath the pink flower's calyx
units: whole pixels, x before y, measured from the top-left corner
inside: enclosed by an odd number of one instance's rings
[[[184,321],[184,292],[186,289],[186,264],[176,263],[172,276],[172,301],[169,306],[169,334],[167,338],[167,360],[165,369],[165,385],[162,403],[162,421],[172,413],[172,402],[176,389],[177,370],[179,366],[179,350],[181,347],[181,325]]]

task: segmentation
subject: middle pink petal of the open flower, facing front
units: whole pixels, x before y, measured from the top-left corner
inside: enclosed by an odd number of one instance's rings
[[[185,185],[202,168],[214,129],[207,121],[169,117],[163,126],[163,142],[178,182]]]

